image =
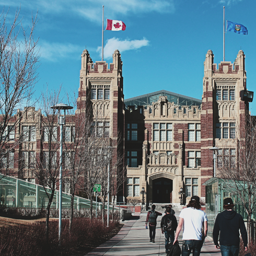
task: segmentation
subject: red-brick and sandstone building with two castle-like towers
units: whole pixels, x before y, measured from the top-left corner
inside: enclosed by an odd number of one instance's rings
[[[103,129],[109,144],[117,149],[112,165],[118,155],[124,155],[122,168],[117,170],[125,178],[118,202],[142,200],[142,188],[146,191],[146,204],[178,205],[181,189],[184,204],[192,195],[204,199],[202,184],[214,175],[210,148],[218,147],[219,156],[236,154],[236,129],[238,124],[243,125],[249,111],[248,103],[240,99],[240,91],[247,90],[242,51],[234,64],[225,61],[218,66],[214,64],[213,52],[207,52],[202,100],[170,91],[124,100],[122,61],[118,50],[114,51],[113,62],[109,65],[105,61],[93,63],[88,51],[84,50],[79,84],[76,115],[85,112],[85,106],[89,104],[96,129]],[[44,116],[34,108],[25,111],[30,113],[28,120],[23,120],[15,129],[16,135],[11,136],[17,137],[30,125],[38,129],[32,130],[30,139],[13,148],[8,160],[4,161],[14,162],[10,167],[19,173],[19,178],[37,182],[33,177],[36,170],[32,168],[31,152],[42,157],[44,142],[40,120]],[[59,134],[59,127],[56,131]],[[10,143],[13,142],[10,140]],[[22,161],[27,159],[27,168],[23,169],[21,161],[14,161],[21,159],[22,154]],[[217,164],[220,164],[218,159]]]

